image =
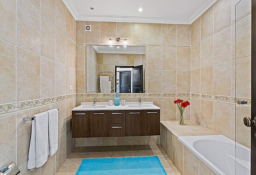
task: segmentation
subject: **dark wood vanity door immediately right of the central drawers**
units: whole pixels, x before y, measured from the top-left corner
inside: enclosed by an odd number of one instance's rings
[[[142,110],[126,111],[126,136],[142,136]]]

